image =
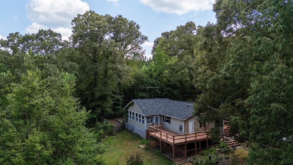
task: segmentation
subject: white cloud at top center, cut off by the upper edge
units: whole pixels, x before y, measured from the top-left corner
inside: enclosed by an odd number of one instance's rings
[[[140,0],[157,12],[182,15],[190,11],[210,10],[215,0]]]

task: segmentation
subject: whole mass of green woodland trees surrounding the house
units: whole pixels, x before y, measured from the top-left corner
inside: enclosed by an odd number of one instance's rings
[[[69,41],[10,33],[0,39],[0,164],[103,164],[91,128],[156,97],[194,102],[200,121],[229,117],[251,143],[248,164],[293,164],[292,9],[217,0],[216,23],[161,33],[150,59],[147,36],[121,15],[79,14]]]

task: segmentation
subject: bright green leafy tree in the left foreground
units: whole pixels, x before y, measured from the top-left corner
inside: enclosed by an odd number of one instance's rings
[[[85,127],[89,112],[71,96],[72,76],[29,68],[1,107],[0,163],[103,164],[103,148]]]

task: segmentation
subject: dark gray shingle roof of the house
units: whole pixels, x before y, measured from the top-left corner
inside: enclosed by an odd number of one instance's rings
[[[194,112],[193,103],[191,102],[161,98],[134,99],[133,101],[142,111],[144,116],[162,114],[184,120],[191,116]],[[190,107],[187,106],[188,104],[190,105]],[[145,107],[145,109],[143,107]]]

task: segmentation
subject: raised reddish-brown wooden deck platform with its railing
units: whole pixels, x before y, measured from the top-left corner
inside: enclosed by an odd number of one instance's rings
[[[172,145],[210,139],[207,136],[207,131],[194,132],[190,134],[178,134],[176,132],[163,129],[161,126],[151,126],[149,134],[152,137],[161,139]]]

